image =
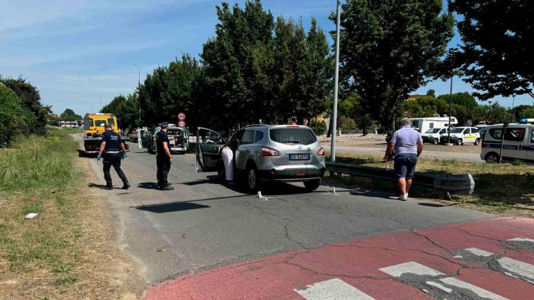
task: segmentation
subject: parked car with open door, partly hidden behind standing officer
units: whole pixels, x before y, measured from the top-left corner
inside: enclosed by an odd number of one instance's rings
[[[156,133],[161,131],[161,126],[156,126],[152,131],[146,128],[138,129],[138,144],[140,149],[148,149],[149,153],[156,151]],[[169,124],[167,129],[171,152],[185,154],[189,148],[189,132],[187,128]]]

